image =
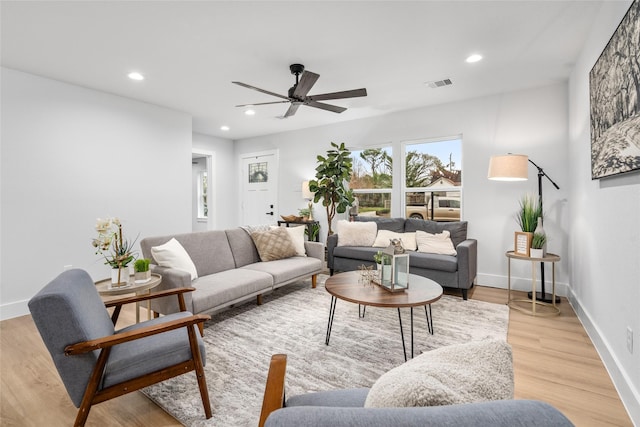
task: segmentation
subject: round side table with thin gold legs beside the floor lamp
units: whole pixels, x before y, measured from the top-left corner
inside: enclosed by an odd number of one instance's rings
[[[560,314],[560,309],[556,306],[556,262],[560,261],[560,256],[552,253],[547,253],[542,258],[532,258],[523,255],[516,255],[513,251],[508,251],[506,254],[508,260],[507,267],[507,287],[509,290],[508,293],[508,301],[507,305],[514,309],[521,311],[525,314],[530,314],[532,316],[557,316]],[[530,261],[531,262],[531,301],[528,299],[512,299],[511,298],[511,260],[518,259],[522,261]],[[536,263],[538,262],[550,262],[551,263],[551,283],[552,283],[552,298],[551,303],[539,301],[536,298]],[[517,305],[516,303],[531,302],[531,309],[527,309],[521,305]],[[544,307],[543,311],[536,310],[537,306]]]

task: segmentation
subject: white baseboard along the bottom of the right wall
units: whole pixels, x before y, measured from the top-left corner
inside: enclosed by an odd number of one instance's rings
[[[591,316],[589,316],[589,313],[582,307],[576,295],[570,291],[568,299],[582,326],[589,335],[593,346],[596,348],[602,363],[604,363],[631,421],[635,426],[640,425],[640,392],[633,386],[628,373],[621,369],[622,365],[619,363],[615,354],[611,352],[609,342],[600,333],[598,326],[591,321]]]

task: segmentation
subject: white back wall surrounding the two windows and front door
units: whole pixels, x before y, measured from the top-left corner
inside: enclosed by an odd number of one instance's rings
[[[536,170],[529,181],[505,183],[487,180],[489,158],[507,152],[528,154],[560,186],[544,183],[545,231],[549,250],[567,258],[568,169],[567,87],[560,83],[521,92],[484,97],[433,108],[423,108],[371,119],[354,120],[294,132],[237,141],[237,152],[277,148],[280,152],[279,206],[283,214],[304,206],[300,183],[314,176],[316,155],[324,154],[329,142],[350,147],[390,143],[400,150],[403,141],[462,135],[463,219],[469,221],[469,237],[478,239],[478,283],[506,288],[506,258],[513,248],[517,229],[514,214],[526,192],[537,193]],[[304,114],[304,111],[301,111]],[[295,118],[293,118],[295,119]],[[394,202],[394,216],[401,216]],[[322,206],[314,217],[324,220]],[[521,265],[519,265],[521,264]],[[569,282],[568,263],[557,268],[561,293]],[[527,263],[513,263],[514,285],[530,289],[531,269]],[[550,274],[547,279],[550,280]]]

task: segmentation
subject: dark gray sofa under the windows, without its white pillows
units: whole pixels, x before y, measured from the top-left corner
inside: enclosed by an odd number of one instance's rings
[[[417,230],[436,234],[449,230],[457,255],[440,255],[409,251],[409,272],[435,280],[446,288],[462,291],[467,299],[478,271],[478,242],[467,238],[467,222],[435,222],[414,218],[379,218],[357,216],[356,221],[375,221],[378,230],[408,233]],[[338,246],[338,234],[327,239],[327,265],[336,271],[353,271],[361,265],[375,265],[373,255],[381,248],[365,246]]]

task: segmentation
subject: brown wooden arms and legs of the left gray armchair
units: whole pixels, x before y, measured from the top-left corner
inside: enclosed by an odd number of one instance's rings
[[[111,321],[115,325],[120,311],[124,304],[136,303],[140,301],[147,301],[153,298],[160,298],[170,295],[177,295],[178,302],[181,311],[186,311],[186,304],[184,301],[184,293],[192,292],[195,288],[179,288],[171,289],[167,291],[161,291],[146,295],[137,295],[127,298],[119,298],[116,300],[105,303],[105,307],[115,307],[111,316]],[[182,319],[172,320],[169,322],[156,324],[153,326],[142,327],[140,329],[128,332],[117,333],[103,338],[95,340],[79,342],[76,344],[65,347],[65,355],[73,356],[83,353],[88,353],[95,350],[100,350],[98,361],[93,369],[89,383],[82,398],[80,409],[76,417],[75,426],[84,426],[89,416],[89,410],[91,405],[95,405],[105,400],[113,399],[114,397],[122,396],[127,393],[139,390],[143,387],[156,384],[169,378],[176,377],[178,375],[186,374],[190,371],[196,372],[198,379],[198,386],[200,388],[200,396],[202,397],[202,404],[204,406],[204,412],[207,419],[211,418],[211,403],[209,401],[209,392],[207,390],[207,381],[204,375],[204,367],[202,364],[202,356],[198,347],[198,340],[194,331],[193,325],[198,325],[202,334],[203,324],[206,320],[209,320],[211,316],[207,315],[192,315]],[[98,390],[100,380],[104,374],[104,369],[109,359],[111,347],[117,344],[122,344],[128,341],[133,341],[141,338],[145,338],[151,335],[161,334],[163,332],[171,331],[179,328],[187,328],[189,334],[189,344],[191,347],[192,358],[178,363],[167,368],[142,375],[138,378],[125,381],[120,384],[115,384],[110,387]]]

